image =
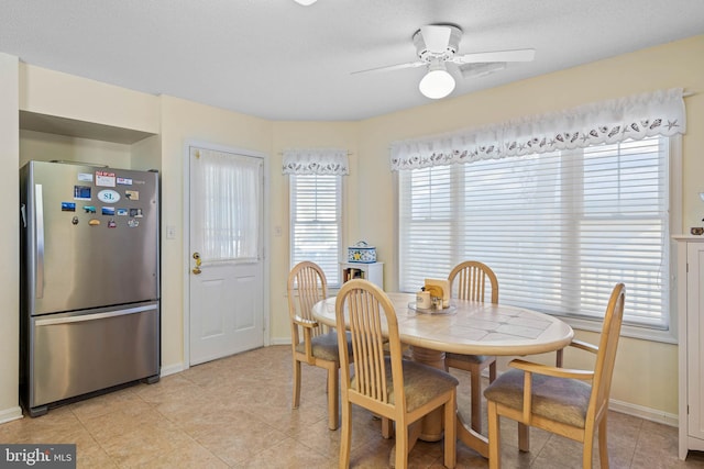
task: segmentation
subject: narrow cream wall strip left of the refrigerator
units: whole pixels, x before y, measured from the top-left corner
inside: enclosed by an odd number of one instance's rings
[[[0,187],[3,204],[8,209],[6,223],[0,230],[0,256],[4,268],[0,270],[0,423],[20,418],[20,167],[19,120],[19,60],[0,53]]]

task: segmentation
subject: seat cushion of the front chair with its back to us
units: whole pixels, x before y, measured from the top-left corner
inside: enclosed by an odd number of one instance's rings
[[[386,382],[389,404],[395,403],[394,383],[392,379],[391,358],[385,359]],[[455,377],[438,368],[416,361],[403,360],[404,367],[404,392],[406,393],[406,411],[413,412],[431,399],[457,388],[459,381]],[[352,388],[356,387],[356,377],[352,378]]]

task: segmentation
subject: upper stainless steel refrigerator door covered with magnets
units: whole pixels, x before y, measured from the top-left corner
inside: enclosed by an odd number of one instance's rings
[[[158,175],[57,163],[23,168],[30,315],[158,298]]]

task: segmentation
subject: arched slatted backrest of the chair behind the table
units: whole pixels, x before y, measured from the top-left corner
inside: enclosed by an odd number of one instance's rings
[[[498,303],[498,280],[483,263],[465,260],[457,265],[448,276],[448,281],[453,298],[484,302],[488,295],[492,303]]]

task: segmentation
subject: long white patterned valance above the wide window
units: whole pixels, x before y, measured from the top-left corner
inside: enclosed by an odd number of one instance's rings
[[[685,133],[682,88],[585,104],[561,112],[432,135],[391,146],[393,171],[472,163],[627,138]]]

